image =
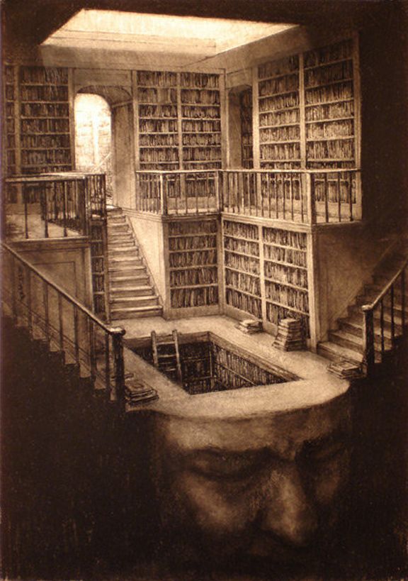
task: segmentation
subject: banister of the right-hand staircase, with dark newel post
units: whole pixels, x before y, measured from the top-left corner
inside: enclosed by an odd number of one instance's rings
[[[363,304],[363,367],[371,375],[375,363],[395,346],[405,331],[408,260],[370,304]]]

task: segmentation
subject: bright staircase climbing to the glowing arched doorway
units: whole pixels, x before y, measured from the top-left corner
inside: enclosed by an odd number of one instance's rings
[[[108,259],[111,319],[160,316],[159,297],[120,208],[108,208]]]

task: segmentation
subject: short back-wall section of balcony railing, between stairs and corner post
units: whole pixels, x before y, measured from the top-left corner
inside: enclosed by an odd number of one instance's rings
[[[217,170],[136,172],[136,210],[186,215],[219,211]]]

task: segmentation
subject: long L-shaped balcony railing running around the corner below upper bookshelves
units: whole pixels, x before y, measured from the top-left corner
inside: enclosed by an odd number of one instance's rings
[[[223,211],[295,223],[361,220],[359,170],[136,172],[137,211],[188,215]]]

